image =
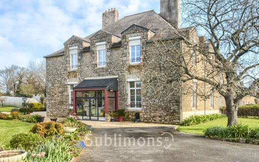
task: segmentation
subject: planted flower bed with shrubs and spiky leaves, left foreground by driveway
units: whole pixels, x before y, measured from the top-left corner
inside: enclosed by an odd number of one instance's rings
[[[73,126],[77,130],[64,133],[64,126]],[[26,162],[70,162],[72,158],[86,148],[86,137],[93,128],[70,117],[61,123],[44,122],[35,124],[31,133],[16,134],[10,140],[11,149],[25,150]]]

